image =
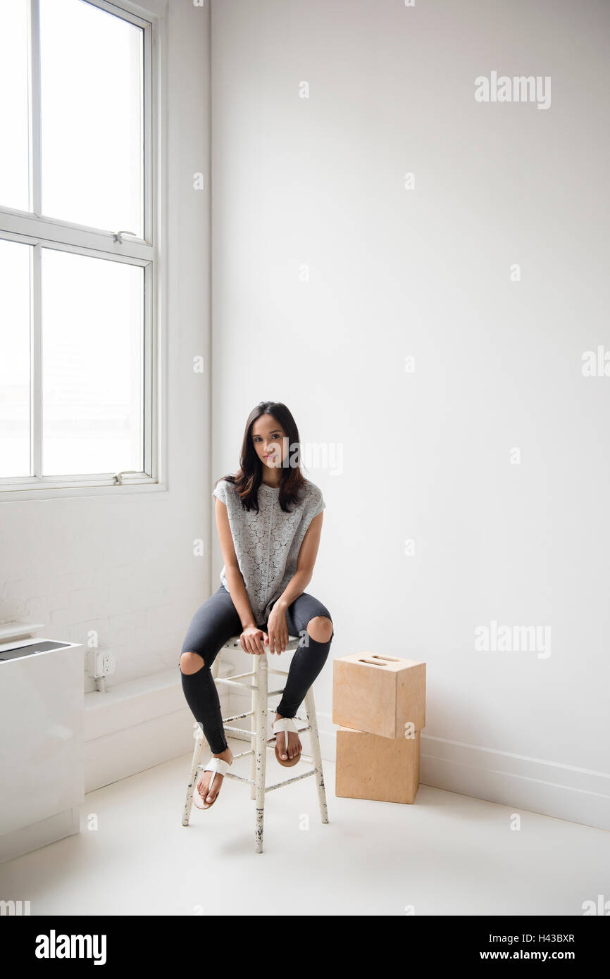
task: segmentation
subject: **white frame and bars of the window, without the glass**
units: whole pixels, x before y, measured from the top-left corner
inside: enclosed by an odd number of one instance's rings
[[[30,202],[32,211],[0,205],[0,239],[22,242],[30,250],[30,343],[33,374],[30,381],[30,456],[34,475],[0,478],[0,501],[50,499],[166,490],[164,481],[164,404],[165,377],[162,357],[162,317],[166,282],[165,259],[160,266],[159,241],[162,233],[164,194],[162,194],[166,160],[166,140],[162,126],[165,104],[166,7],[164,0],[145,0],[143,6],[128,0],[81,0],[134,23],[144,32],[144,237],[117,236],[121,229],[103,231],[40,214],[40,30],[38,0],[28,0],[28,43],[31,60],[28,86],[31,101],[29,130]],[[115,240],[117,238],[117,240]],[[41,389],[41,318],[40,253],[42,246],[77,255],[123,261],[144,269],[144,469],[139,473],[97,473],[74,476],[42,476],[42,389]],[[0,303],[2,302],[0,298]]]

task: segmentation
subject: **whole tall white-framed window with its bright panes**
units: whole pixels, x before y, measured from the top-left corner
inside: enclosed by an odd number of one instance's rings
[[[152,29],[0,0],[0,499],[158,482]]]

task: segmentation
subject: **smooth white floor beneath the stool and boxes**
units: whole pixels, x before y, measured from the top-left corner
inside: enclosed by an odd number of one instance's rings
[[[181,825],[189,762],[89,793],[80,834],[0,864],[0,898],[29,900],[32,915],[582,915],[610,899],[610,832],[525,811],[514,831],[515,810],[426,785],[412,806],[339,799],[331,762],[329,823],[313,778],[268,792],[256,854],[255,804],[236,780]],[[285,772],[269,752],[267,783]]]

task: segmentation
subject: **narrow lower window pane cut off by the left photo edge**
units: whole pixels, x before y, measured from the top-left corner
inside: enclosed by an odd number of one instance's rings
[[[30,246],[0,240],[0,476],[29,476]]]

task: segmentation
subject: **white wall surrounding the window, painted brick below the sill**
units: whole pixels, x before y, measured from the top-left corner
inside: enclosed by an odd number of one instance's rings
[[[150,6],[164,8],[160,0]],[[0,503],[0,619],[45,623],[41,634],[83,644],[96,629],[100,646],[117,657],[113,685],[169,668],[178,677],[182,639],[210,587],[210,514],[202,504],[210,387],[208,374],[193,372],[196,354],[209,370],[210,352],[209,27],[208,9],[170,4],[161,248],[168,491]],[[193,189],[197,171],[206,174],[203,192]],[[203,556],[194,556],[195,538],[206,543]],[[188,744],[190,725],[185,730]]]

